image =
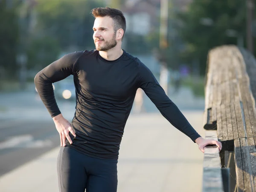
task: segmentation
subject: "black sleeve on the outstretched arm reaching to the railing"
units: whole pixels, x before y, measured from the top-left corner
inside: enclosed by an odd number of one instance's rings
[[[201,137],[189,124],[185,116],[180,112],[176,104],[166,95],[163,88],[157,82],[153,73],[139,61],[139,87],[142,88],[149,99],[155,104],[160,113],[178,130],[195,140]]]

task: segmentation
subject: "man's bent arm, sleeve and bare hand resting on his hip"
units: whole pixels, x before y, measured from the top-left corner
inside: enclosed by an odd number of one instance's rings
[[[72,144],[69,132],[76,136],[74,130],[71,128],[70,122],[61,114],[55,100],[52,83],[65,79],[67,76],[76,73],[75,65],[83,52],[75,52],[67,54],[61,59],[48,65],[35,76],[35,86],[38,94],[43,101],[45,107],[50,113],[56,129],[60,135],[61,146],[65,146],[66,138]]]

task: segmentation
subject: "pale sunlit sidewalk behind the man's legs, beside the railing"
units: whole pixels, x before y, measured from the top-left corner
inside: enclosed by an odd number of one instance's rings
[[[183,114],[204,136],[203,112]],[[59,147],[0,178],[1,192],[58,192]],[[118,162],[118,192],[200,192],[203,153],[160,113],[131,115]]]

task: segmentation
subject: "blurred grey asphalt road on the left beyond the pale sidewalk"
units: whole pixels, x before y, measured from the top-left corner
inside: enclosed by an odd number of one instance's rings
[[[0,176],[60,145],[59,135],[38,94],[0,93]],[[74,102],[58,101],[69,121]]]

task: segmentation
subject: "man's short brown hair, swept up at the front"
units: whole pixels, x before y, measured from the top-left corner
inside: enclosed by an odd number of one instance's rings
[[[110,7],[98,7],[98,8],[93,8],[93,10],[91,11],[93,17],[105,17],[105,16],[109,16],[113,19],[114,21],[114,31],[116,33],[116,31],[120,28],[122,28],[124,30],[124,34],[125,34],[125,30],[126,30],[126,20],[125,20],[125,16],[122,13],[122,11],[116,9],[116,8],[110,8]]]

